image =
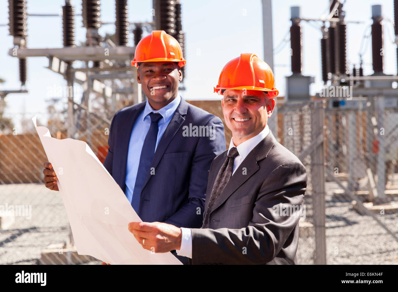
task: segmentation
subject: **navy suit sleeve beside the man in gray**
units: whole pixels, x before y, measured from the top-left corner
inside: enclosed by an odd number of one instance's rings
[[[189,177],[189,202],[183,205],[165,222],[177,227],[200,228],[203,224],[203,210],[207,188],[208,170],[213,159],[225,151],[224,125],[214,116],[205,126],[215,129],[212,137],[200,137],[195,148]],[[200,212],[199,209],[200,208]]]

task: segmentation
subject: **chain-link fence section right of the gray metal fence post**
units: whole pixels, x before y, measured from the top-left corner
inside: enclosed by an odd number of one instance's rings
[[[398,264],[398,109],[326,110],[328,263]]]

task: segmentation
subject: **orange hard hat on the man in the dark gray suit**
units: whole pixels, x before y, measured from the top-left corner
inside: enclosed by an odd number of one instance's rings
[[[269,97],[277,97],[275,80],[271,68],[255,54],[240,54],[229,61],[220,73],[219,84],[214,92],[224,95],[223,89],[246,89],[267,91]]]

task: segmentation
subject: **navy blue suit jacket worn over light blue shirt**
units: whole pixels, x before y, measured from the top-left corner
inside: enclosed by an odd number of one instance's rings
[[[145,102],[141,102],[123,108],[111,122],[104,166],[123,191],[131,131],[144,107]],[[187,129],[194,126],[211,126],[214,139],[194,131],[187,137]],[[210,165],[223,151],[225,135],[220,118],[181,98],[152,159],[154,174],[148,171],[146,175],[137,212],[142,221],[201,227]],[[140,159],[139,155],[135,159]]]

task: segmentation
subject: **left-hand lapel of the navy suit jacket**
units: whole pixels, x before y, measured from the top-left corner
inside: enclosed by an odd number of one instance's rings
[[[129,144],[131,138],[131,131],[133,131],[133,126],[139,114],[145,108],[145,101],[140,103],[139,106],[131,108],[128,114],[121,116],[121,120],[119,121],[119,126],[121,129],[120,133],[117,135],[117,139],[120,139],[119,143],[116,143],[117,149],[115,149],[115,153],[118,153],[113,157],[114,165],[117,165],[116,168],[119,172],[115,177],[117,179],[116,182],[119,184],[120,188],[124,191],[125,181],[126,181],[126,168],[127,168],[127,155],[129,153]],[[124,127],[125,126],[125,127]]]

